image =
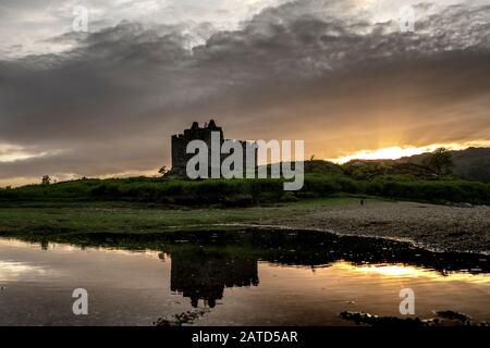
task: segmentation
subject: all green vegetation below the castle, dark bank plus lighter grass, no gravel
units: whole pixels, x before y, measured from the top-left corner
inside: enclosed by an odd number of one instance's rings
[[[320,165],[321,164],[321,165]],[[301,216],[378,197],[445,203],[490,203],[490,184],[411,173],[353,173],[308,162],[304,187],[282,179],[111,178],[0,189],[0,234],[159,233]],[[360,171],[360,172],[359,172]],[[387,172],[393,173],[393,172]],[[353,196],[353,197],[350,197]]]

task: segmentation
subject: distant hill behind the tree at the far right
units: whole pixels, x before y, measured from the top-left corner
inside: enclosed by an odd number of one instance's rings
[[[454,161],[454,175],[483,183],[490,183],[490,148],[468,148],[450,151]],[[399,163],[421,164],[428,153],[415,154],[396,160]]]

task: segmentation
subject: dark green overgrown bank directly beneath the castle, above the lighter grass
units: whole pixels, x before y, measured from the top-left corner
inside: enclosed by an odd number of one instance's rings
[[[52,185],[0,189],[0,206],[59,202],[145,202],[185,207],[252,207],[332,195],[367,195],[436,203],[490,203],[490,184],[456,178],[421,179],[413,175],[364,177],[344,172],[311,173],[303,189],[284,191],[281,179],[119,178],[79,179]]]

